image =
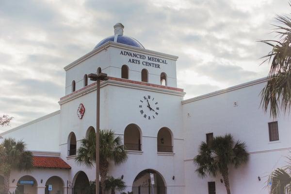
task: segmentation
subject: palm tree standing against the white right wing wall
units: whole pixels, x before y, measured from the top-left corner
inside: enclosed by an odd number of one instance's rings
[[[247,162],[249,154],[245,148],[244,142],[234,142],[230,134],[217,136],[208,144],[203,141],[199,147],[199,155],[194,158],[197,165],[195,172],[202,178],[207,174],[217,176],[220,173],[224,179],[226,192],[230,194],[228,167],[233,165],[238,168]]]

